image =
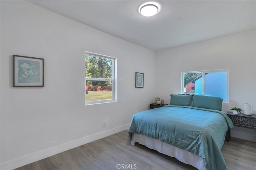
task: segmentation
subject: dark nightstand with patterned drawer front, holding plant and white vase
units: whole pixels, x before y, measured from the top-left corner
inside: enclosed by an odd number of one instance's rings
[[[256,115],[244,115],[243,113],[235,115],[231,111],[228,111],[227,115],[232,120],[234,126],[256,129]],[[230,138],[230,129],[228,130],[226,136],[227,135]]]

